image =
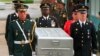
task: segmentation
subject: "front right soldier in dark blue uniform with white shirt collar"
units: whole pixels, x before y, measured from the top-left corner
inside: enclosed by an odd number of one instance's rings
[[[71,37],[74,40],[74,56],[96,55],[97,40],[93,23],[87,21],[87,6],[79,5],[79,20],[71,25]]]

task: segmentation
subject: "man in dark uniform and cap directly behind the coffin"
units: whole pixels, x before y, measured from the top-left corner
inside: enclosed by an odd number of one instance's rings
[[[58,27],[57,19],[50,16],[50,4],[44,3],[40,5],[42,16],[36,19],[37,27]]]

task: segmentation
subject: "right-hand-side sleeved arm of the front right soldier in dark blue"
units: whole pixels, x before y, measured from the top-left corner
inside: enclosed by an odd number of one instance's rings
[[[92,51],[93,53],[97,52],[97,39],[96,39],[96,30],[94,25],[91,23],[91,36],[92,36]]]

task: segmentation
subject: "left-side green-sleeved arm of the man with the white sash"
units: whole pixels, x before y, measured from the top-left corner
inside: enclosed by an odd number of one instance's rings
[[[12,28],[12,23],[9,23],[8,26],[8,46],[9,46],[9,55],[14,54],[14,30]]]

